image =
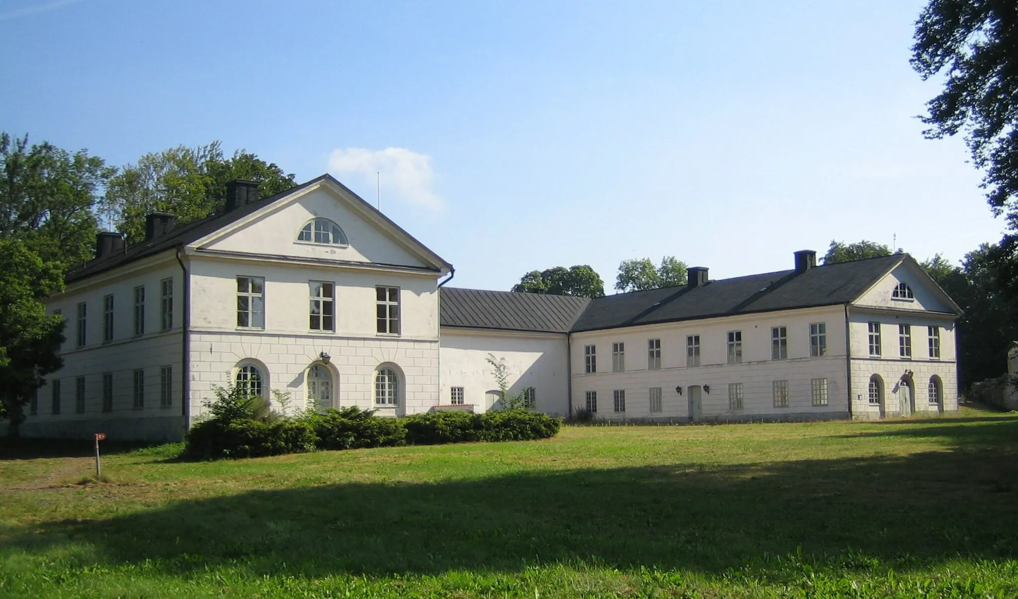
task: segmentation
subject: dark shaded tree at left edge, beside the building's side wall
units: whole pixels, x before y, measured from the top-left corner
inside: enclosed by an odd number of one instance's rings
[[[43,377],[63,365],[63,318],[48,315],[43,304],[62,288],[59,263],[43,261],[20,241],[0,240],[0,419],[11,436]]]

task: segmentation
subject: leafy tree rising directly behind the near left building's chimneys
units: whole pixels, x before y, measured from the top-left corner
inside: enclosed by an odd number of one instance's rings
[[[239,149],[224,158],[219,141],[197,147],[178,145],[147,154],[123,167],[109,182],[104,209],[115,217],[128,243],[133,243],[145,238],[148,214],[171,213],[183,225],[221,212],[226,183],[233,179],[259,182],[263,197],[296,185],[292,174],[248,152]]]

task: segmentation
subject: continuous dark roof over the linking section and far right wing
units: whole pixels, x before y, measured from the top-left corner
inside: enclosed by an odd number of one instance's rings
[[[595,299],[442,288],[442,325],[576,333],[845,304],[904,260],[895,254]],[[913,260],[914,261],[914,260]]]

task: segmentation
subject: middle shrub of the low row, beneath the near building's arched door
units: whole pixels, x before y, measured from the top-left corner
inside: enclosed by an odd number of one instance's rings
[[[375,416],[375,410],[355,406],[306,417],[319,438],[322,450],[391,447],[406,444],[406,429],[395,418]]]

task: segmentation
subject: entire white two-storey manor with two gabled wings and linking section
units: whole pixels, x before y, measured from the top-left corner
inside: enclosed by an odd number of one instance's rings
[[[957,410],[958,306],[907,254],[597,299],[443,287],[452,265],[331,176],[146,240],[97,238],[48,307],[64,366],[27,436],[179,439],[215,385],[291,406],[485,411],[489,355],[536,410],[645,421]]]

